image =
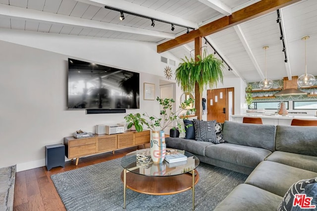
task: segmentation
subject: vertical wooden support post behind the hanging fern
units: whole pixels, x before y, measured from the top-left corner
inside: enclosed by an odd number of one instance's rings
[[[197,56],[202,56],[202,38],[198,37],[195,38],[195,60],[197,61]],[[196,83],[195,84],[195,108],[197,116],[197,119],[202,120],[203,119],[203,109],[202,109],[202,93],[199,91],[199,86]]]

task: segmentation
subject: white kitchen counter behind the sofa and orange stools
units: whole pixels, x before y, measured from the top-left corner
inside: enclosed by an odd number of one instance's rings
[[[260,117],[264,125],[291,125],[293,119],[317,120],[317,116],[289,114],[286,116],[274,114],[247,113],[245,115],[231,115],[230,121],[242,123],[244,117]]]

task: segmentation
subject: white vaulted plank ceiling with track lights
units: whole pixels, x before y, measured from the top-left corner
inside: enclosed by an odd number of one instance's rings
[[[259,0],[0,0],[0,30],[25,30],[39,33],[122,39],[160,44],[186,34],[187,28],[211,23]],[[163,20],[175,25],[124,14],[106,6]],[[282,51],[277,12],[272,11],[234,27],[211,34],[206,39],[231,67],[225,65],[225,77],[240,77],[246,82],[264,78],[264,45],[267,49],[267,78],[299,76],[305,71],[317,75],[317,1],[301,0],[281,8],[287,60]],[[192,31],[192,30],[190,30]],[[203,39],[203,45],[205,46]],[[214,50],[207,45],[208,53]],[[178,58],[193,56],[194,42],[170,49]],[[191,52],[191,53],[190,53]],[[216,56],[218,56],[216,54]],[[219,56],[218,56],[219,57]]]

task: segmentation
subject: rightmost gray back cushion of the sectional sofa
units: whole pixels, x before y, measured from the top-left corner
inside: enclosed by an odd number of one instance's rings
[[[276,150],[317,156],[317,127],[276,126]]]

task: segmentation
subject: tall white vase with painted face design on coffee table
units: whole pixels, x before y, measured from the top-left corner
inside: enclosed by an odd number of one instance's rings
[[[165,134],[163,130],[153,131],[151,136],[151,157],[153,163],[161,164],[166,155]]]

